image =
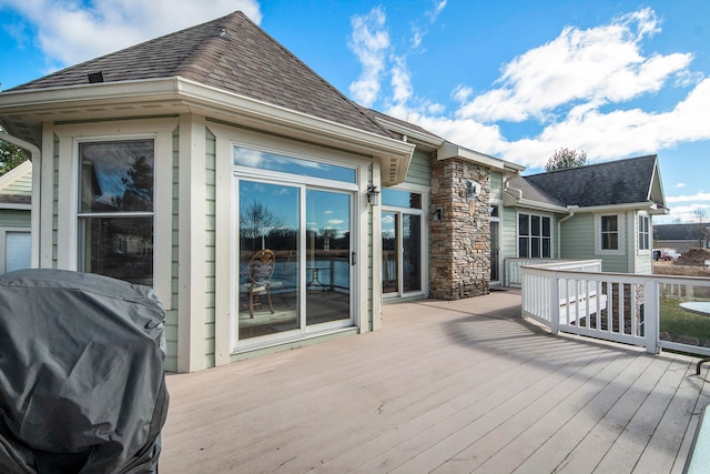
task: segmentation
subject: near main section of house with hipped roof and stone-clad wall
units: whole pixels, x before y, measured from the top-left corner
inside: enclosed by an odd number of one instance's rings
[[[4,91],[0,124],[36,150],[38,266],[152,285],[171,371],[486,294],[523,214],[571,214],[513,199],[524,167],[355,104],[241,12]]]

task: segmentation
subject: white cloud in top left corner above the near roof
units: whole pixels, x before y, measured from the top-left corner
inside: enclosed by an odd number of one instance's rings
[[[4,0],[38,30],[39,47],[54,68],[242,10],[256,23],[256,0]]]

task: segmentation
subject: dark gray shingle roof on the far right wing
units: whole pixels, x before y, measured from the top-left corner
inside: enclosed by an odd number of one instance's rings
[[[551,204],[588,208],[648,202],[656,161],[656,155],[609,161],[517,177],[510,185],[521,189],[524,199]]]

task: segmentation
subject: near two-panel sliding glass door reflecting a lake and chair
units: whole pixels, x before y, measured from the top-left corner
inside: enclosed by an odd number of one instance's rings
[[[239,341],[353,324],[349,192],[237,179]]]

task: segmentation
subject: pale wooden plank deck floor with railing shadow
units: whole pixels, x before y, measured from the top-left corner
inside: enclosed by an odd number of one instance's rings
[[[552,336],[517,292],[387,305],[374,333],[169,375],[160,471],[681,472],[697,360]]]

